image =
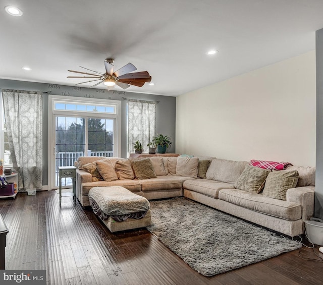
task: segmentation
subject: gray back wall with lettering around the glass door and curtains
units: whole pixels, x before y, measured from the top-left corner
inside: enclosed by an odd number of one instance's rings
[[[121,100],[121,156],[127,156],[127,101],[122,99],[138,99],[147,101],[159,101],[156,105],[156,133],[172,137],[172,146],[167,152],[175,152],[175,120],[176,120],[176,97],[160,96],[143,93],[131,93],[125,91],[107,91],[102,89],[65,86],[50,83],[37,83],[0,79],[0,89],[18,89],[48,92],[43,93],[43,185],[48,183],[48,94],[74,96],[98,99]]]

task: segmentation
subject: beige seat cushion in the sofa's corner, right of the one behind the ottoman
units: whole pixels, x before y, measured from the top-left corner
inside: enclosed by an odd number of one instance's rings
[[[141,191],[156,191],[156,190],[169,190],[181,189],[182,181],[171,176],[158,176],[157,178],[139,180],[141,184]]]

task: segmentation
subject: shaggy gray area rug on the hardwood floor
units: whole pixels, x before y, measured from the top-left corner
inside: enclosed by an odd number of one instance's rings
[[[150,201],[150,206],[147,229],[205,276],[301,247],[296,241],[185,198]]]

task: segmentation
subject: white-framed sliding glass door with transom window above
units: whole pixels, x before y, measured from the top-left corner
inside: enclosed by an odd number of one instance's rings
[[[120,101],[49,95],[48,102],[48,187],[58,186],[59,166],[80,156],[120,156]]]

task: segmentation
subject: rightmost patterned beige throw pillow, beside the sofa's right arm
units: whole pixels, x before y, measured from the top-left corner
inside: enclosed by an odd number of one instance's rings
[[[297,170],[279,170],[271,172],[267,176],[262,195],[286,201],[287,190],[290,188],[295,188],[295,186],[297,185],[297,181]]]

